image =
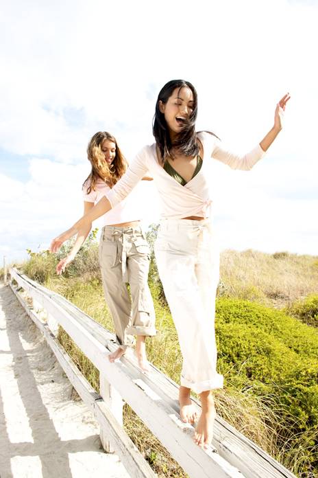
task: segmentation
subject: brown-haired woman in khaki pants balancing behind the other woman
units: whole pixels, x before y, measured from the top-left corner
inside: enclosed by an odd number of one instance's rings
[[[91,171],[83,184],[84,214],[105,196],[121,179],[127,161],[117,140],[107,131],[99,131],[87,147]],[[143,179],[149,179],[144,177]],[[119,359],[134,344],[136,358],[143,372],[149,371],[145,348],[146,337],[156,334],[155,312],[148,286],[149,245],[140,227],[140,202],[134,194],[103,215],[104,227],[99,241],[99,264],[103,291],[114,321],[117,350],[108,355],[110,362]],[[77,234],[73,248],[58,263],[61,274],[87,238],[91,224]],[[130,295],[127,291],[130,284]]]

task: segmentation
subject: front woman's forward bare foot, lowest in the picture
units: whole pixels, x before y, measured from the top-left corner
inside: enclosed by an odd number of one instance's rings
[[[202,448],[208,448],[212,442],[213,424],[215,422],[215,402],[210,391],[200,394],[202,413],[195,429],[193,440]]]

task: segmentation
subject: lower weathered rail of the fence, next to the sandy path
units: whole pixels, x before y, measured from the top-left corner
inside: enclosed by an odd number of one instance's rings
[[[93,387],[91,387],[83,374],[79,372],[75,363],[73,363],[72,359],[61,347],[56,337],[51,330],[49,330],[47,323],[37,317],[36,313],[27,306],[15,288],[11,286],[11,289],[19,300],[21,306],[23,306],[29,317],[44,335],[49,347],[56,355],[58,362],[62,369],[64,369],[64,372],[79,396],[95,414],[97,422],[99,423],[101,430],[103,430],[103,434],[108,437],[110,442],[112,442],[112,448],[117,455],[119,455],[127,472],[137,478],[156,477],[156,473],[151,470],[151,467],[140,454],[138,448],[136,448],[132,440],[130,440],[125,431],[123,431],[121,424],[119,424],[118,420],[114,418],[110,409],[106,406],[105,402],[103,402],[102,397],[97,394]]]

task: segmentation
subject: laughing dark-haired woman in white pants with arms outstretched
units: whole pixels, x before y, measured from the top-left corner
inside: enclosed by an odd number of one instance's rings
[[[219,280],[219,252],[212,223],[212,191],[207,163],[211,157],[230,168],[249,170],[282,129],[289,94],[276,105],[274,124],[254,149],[240,156],[225,149],[212,133],[195,131],[197,93],[190,82],[172,80],[156,102],[154,137],[134,158],[123,178],[71,229],[53,240],[51,251],[84,225],[122,201],[149,170],[158,188],[162,220],[155,244],[156,260],[183,356],[180,378],[180,416],[193,423],[193,389],[201,399],[195,442],[212,440],[215,407],[211,390],[223,386],[217,373],[215,345],[215,293]]]

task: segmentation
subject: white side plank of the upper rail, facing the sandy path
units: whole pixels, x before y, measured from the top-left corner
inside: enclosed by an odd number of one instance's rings
[[[140,387],[140,383],[135,383],[130,376],[130,370],[123,362],[110,363],[105,347],[84,328],[82,323],[79,323],[51,297],[41,293],[37,286],[23,280],[19,273],[12,271],[12,275],[21,286],[27,288],[29,294],[40,302],[48,313],[55,317],[82,352],[107,377],[107,380],[115,385],[123,399],[158,437],[188,475],[195,478],[242,478],[241,473],[223,457],[213,453],[211,449],[204,451],[195,445],[192,437],[184,433],[184,431],[192,433],[192,427],[182,423],[175,411],[160,397],[154,400],[153,396],[149,396],[147,385]],[[133,375],[136,376],[136,371]]]

